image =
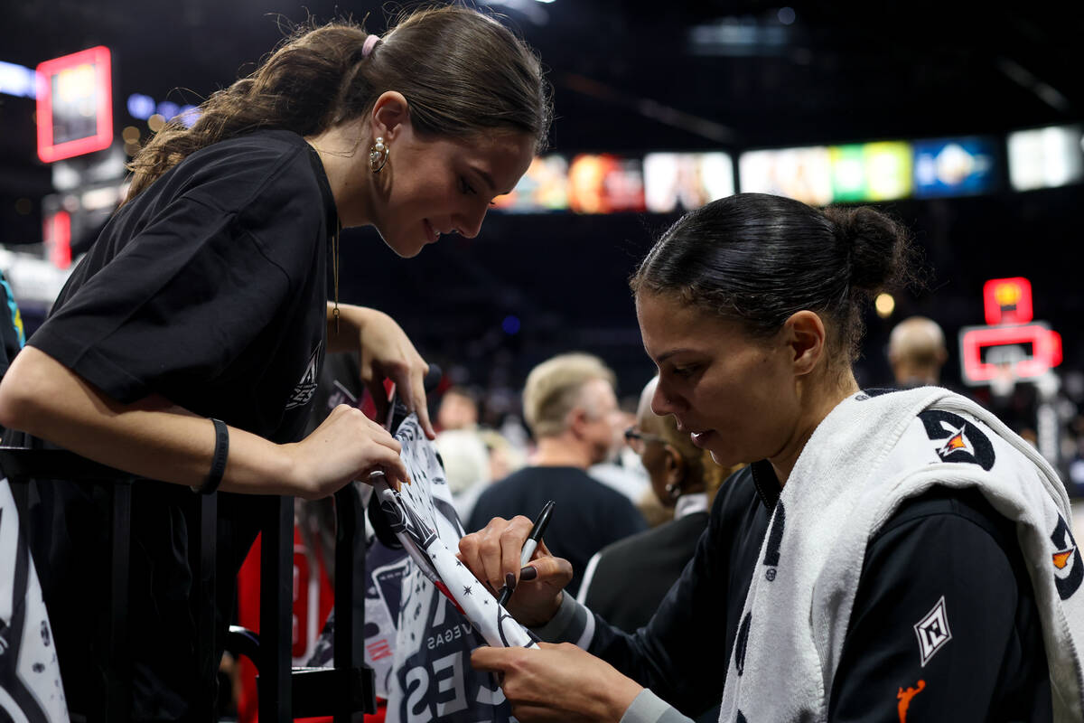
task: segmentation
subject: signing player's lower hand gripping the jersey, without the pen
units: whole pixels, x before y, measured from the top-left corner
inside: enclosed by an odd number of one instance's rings
[[[643,687],[571,643],[541,643],[540,650],[482,646],[470,664],[503,675],[512,713],[531,721],[617,723]]]

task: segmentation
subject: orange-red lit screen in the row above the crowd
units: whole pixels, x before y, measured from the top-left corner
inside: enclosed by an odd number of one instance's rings
[[[568,206],[577,214],[646,210],[641,160],[610,154],[576,156],[568,169]]]

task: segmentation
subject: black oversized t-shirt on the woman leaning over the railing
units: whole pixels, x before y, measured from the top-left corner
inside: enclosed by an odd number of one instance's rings
[[[216,143],[120,208],[28,344],[120,402],[158,393],[295,441],[322,356],[336,224],[302,138]]]

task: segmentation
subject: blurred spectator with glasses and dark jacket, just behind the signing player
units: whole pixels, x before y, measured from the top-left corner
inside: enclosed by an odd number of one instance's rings
[[[610,624],[635,632],[647,624],[670,586],[693,559],[697,540],[708,526],[708,509],[723,469],[711,453],[678,431],[672,415],[651,412],[658,377],[644,387],[636,424],[625,436],[640,453],[651,490],[673,520],[615,542],[591,558],[578,599]]]

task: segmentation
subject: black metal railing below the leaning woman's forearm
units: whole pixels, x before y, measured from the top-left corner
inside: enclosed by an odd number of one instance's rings
[[[30,524],[27,513],[31,481],[67,480],[103,486],[109,501],[108,584],[100,601],[105,614],[96,616],[95,642],[105,651],[105,689],[90,720],[127,723],[131,719],[131,631],[128,584],[130,576],[132,485],[159,485],[139,479],[72,452],[0,447],[0,469],[11,483],[20,508],[21,524]],[[194,514],[189,518],[193,574],[193,599],[197,636],[196,677],[206,695],[192,699],[192,720],[216,721],[215,679],[219,660],[216,630],[216,546],[218,495],[192,495]],[[364,556],[354,559],[354,535],[363,508],[350,486],[335,494],[335,653],[334,667],[293,669],[292,606],[294,498],[251,496],[253,514],[259,519],[260,633],[233,628],[221,641],[227,649],[249,657],[259,671],[259,711],[264,723],[286,723],[295,716],[333,715],[348,723],[356,712],[375,712],[373,671],[362,661],[354,631],[364,629],[364,608],[353,605],[354,576],[364,579]],[[24,530],[25,531],[25,530]],[[37,560],[36,560],[37,563]],[[40,565],[38,566],[40,569]],[[63,644],[59,641],[59,644]]]

